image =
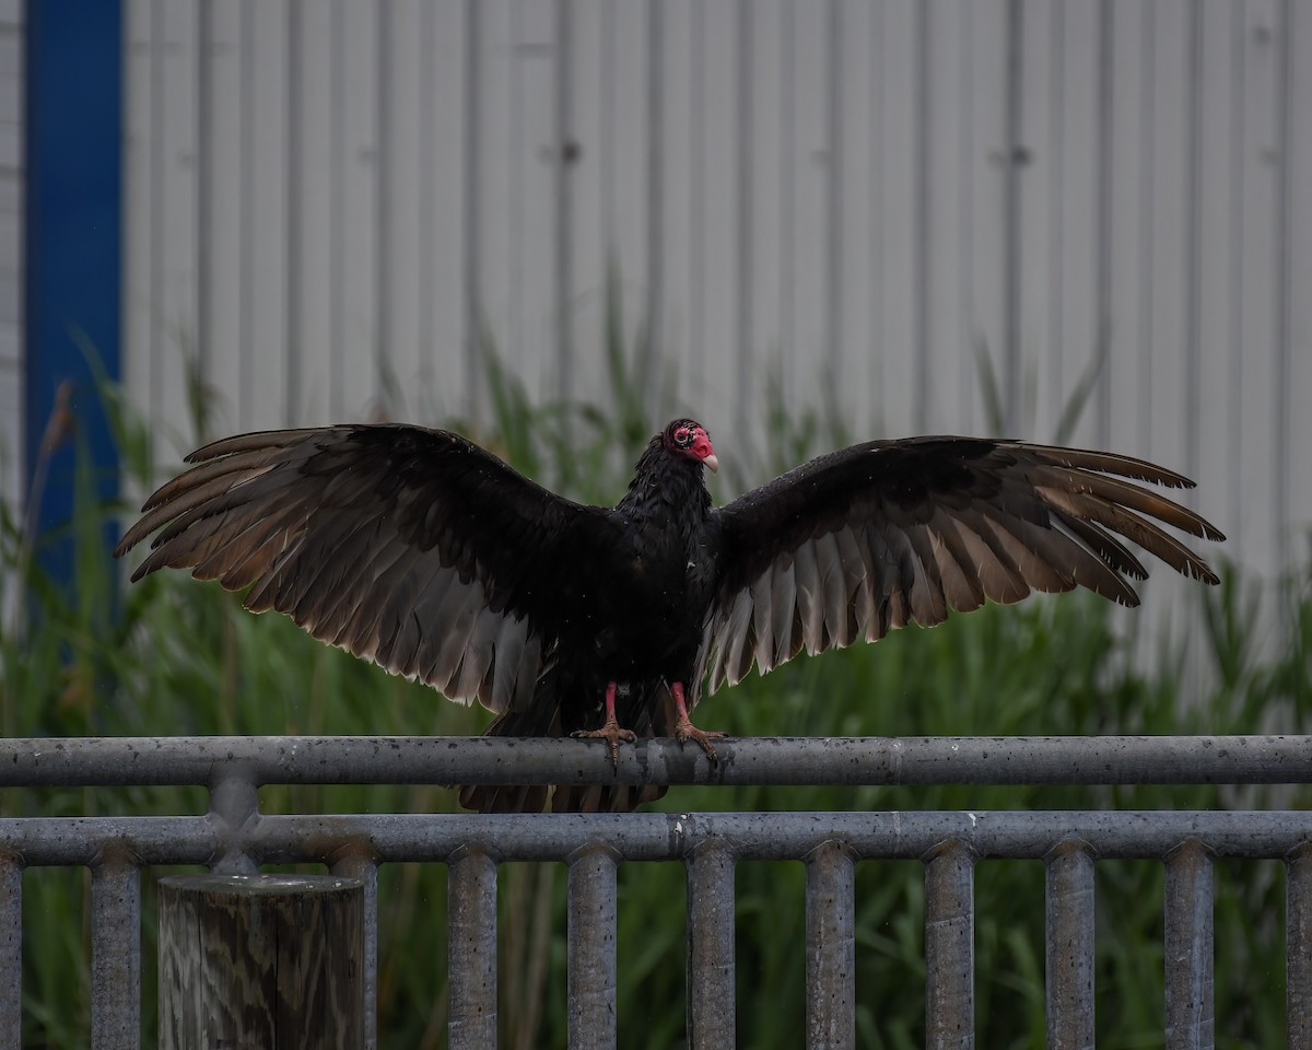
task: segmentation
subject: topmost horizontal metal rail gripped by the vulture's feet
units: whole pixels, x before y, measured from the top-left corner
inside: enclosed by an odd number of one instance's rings
[[[0,740],[0,788],[252,784],[1312,784],[1312,736],[487,736]]]

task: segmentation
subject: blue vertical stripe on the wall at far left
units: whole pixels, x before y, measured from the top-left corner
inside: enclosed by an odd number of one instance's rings
[[[39,500],[39,564],[73,583],[73,448],[84,445],[101,499],[118,459],[88,361],[119,374],[122,7],[119,0],[28,4],[26,388],[28,497]],[[68,383],[76,440],[42,441]],[[46,461],[46,462],[43,462]],[[108,539],[108,532],[106,532]]]

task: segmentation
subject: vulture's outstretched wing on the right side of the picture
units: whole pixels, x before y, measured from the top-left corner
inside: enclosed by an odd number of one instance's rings
[[[1014,441],[871,441],[812,459],[715,512],[719,575],[699,668],[708,689],[800,650],[876,640],[985,600],[1086,587],[1123,605],[1148,572],[1119,537],[1218,583],[1157,522],[1223,539],[1138,484],[1193,482],[1124,455]],[[698,676],[701,680],[701,676]]]

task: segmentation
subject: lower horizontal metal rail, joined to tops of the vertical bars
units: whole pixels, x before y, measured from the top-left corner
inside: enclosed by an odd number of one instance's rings
[[[26,865],[88,865],[110,848],[139,864],[442,862],[476,844],[497,861],[567,861],[605,843],[622,861],[686,860],[716,843],[736,860],[798,860],[829,841],[859,860],[925,860],[956,841],[980,860],[1042,858],[1078,840],[1099,858],[1162,860],[1185,841],[1218,857],[1286,858],[1312,841],[1312,812],[1040,810],[1033,812],[350,814],[257,816],[236,831],[213,816],[0,819],[0,843]]]

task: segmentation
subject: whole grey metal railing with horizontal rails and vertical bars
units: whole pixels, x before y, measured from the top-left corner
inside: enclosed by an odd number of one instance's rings
[[[748,814],[266,815],[262,785],[290,784],[1308,784],[1312,738],[741,739],[621,751],[573,740],[454,738],[131,738],[0,742],[0,786],[199,785],[195,816],[0,819],[0,1050],[21,1046],[22,870],[92,873],[93,1046],[135,1047],[140,1024],[142,869],[252,873],[316,862],[366,899],[366,1043],[374,1046],[379,865],[446,864],[450,1046],[496,1045],[496,879],[505,861],[568,865],[571,1047],[615,1045],[617,868],[687,869],[687,1029],[693,1047],[735,1045],[733,869],[806,862],[806,1045],[855,1045],[854,869],[925,865],[926,1040],[974,1046],[974,872],[993,858],[1047,869],[1048,1046],[1094,1029],[1094,868],[1166,866],[1166,1046],[1212,1045],[1212,860],[1283,860],[1287,1032],[1312,1047],[1312,814],[1303,811],[887,811]]]

